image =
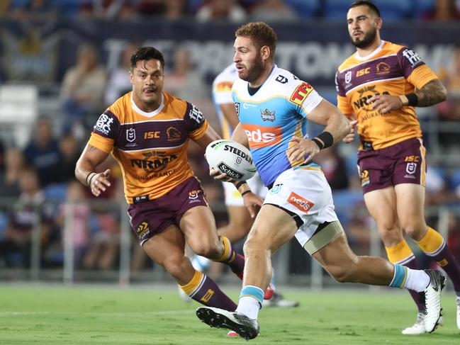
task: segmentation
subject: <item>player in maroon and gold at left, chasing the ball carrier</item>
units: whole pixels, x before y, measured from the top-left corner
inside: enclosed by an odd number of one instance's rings
[[[219,139],[193,104],[163,92],[164,58],[154,47],[131,56],[133,91],[107,108],[91,133],[75,175],[99,196],[110,186],[110,170],[96,172],[112,154],[123,171],[128,215],[139,244],[193,300],[235,310],[218,285],[191,266],[185,244],[196,253],[228,264],[242,276],[245,259],[215,229],[211,208],[187,162],[193,140],[203,148]],[[252,193],[245,200],[259,198]]]

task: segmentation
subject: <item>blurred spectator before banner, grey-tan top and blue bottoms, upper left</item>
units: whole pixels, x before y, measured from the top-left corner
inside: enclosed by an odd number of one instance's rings
[[[72,129],[75,123],[84,123],[89,114],[99,114],[106,88],[106,69],[99,64],[99,53],[94,45],[80,45],[77,64],[67,70],[62,81],[61,97],[64,111],[63,131]],[[91,120],[92,123],[92,119]]]

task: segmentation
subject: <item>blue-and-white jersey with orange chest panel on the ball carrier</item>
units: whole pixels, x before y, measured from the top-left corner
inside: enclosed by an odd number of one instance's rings
[[[293,136],[307,136],[308,114],[322,97],[310,84],[276,65],[255,94],[249,94],[248,87],[247,81],[237,79],[232,97],[265,186],[291,168],[319,169],[315,164],[304,166],[303,159],[291,162],[286,150]]]

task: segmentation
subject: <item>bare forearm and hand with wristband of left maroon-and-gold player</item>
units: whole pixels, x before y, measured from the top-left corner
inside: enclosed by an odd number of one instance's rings
[[[85,186],[89,186],[94,196],[99,196],[106,190],[106,187],[111,185],[110,181],[108,181],[110,169],[99,174],[96,173],[96,167],[105,161],[107,157],[108,153],[94,146],[86,145],[77,162],[77,166],[75,166],[75,176],[78,181]]]

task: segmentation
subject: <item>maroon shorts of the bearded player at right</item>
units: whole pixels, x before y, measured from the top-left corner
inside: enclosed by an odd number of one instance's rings
[[[358,152],[358,172],[363,193],[415,183],[425,186],[426,149],[422,140],[412,138],[384,149]]]

